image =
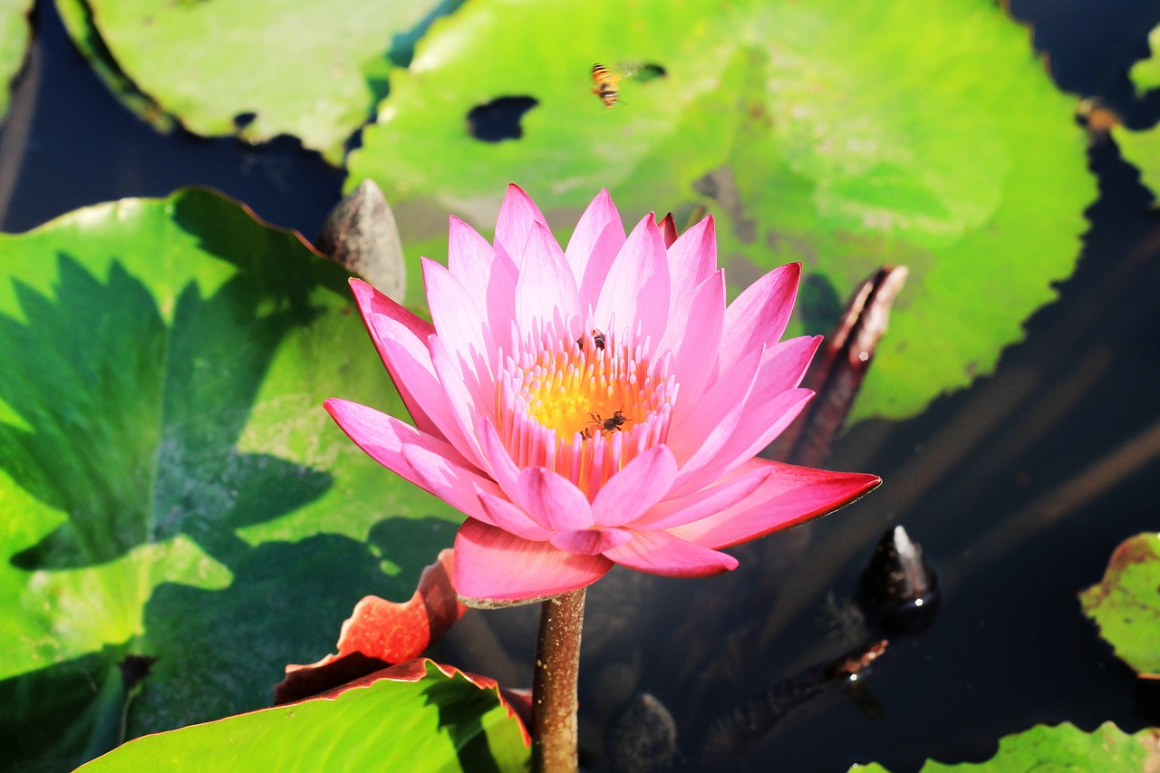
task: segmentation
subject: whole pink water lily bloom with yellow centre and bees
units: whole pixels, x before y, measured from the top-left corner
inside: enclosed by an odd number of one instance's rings
[[[712,217],[625,238],[601,192],[560,250],[510,186],[494,246],[451,218],[423,260],[434,324],[351,281],[414,426],[329,399],[360,448],[467,515],[456,591],[476,606],[587,586],[614,564],[728,571],[719,549],[828,513],[880,482],[755,458],[812,397],[820,338],[780,341],[800,267],[725,304]]]

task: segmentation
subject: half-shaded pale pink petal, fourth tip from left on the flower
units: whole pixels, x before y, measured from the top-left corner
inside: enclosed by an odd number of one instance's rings
[[[487,315],[493,334],[499,331],[506,335],[515,318],[515,263],[507,255],[496,255],[487,239],[452,217],[447,267],[472,295],[476,306]]]

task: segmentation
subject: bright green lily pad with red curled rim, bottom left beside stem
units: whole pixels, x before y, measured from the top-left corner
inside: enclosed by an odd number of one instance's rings
[[[409,665],[409,664],[408,664]],[[529,752],[494,682],[419,662],[328,698],[132,741],[102,771],[520,771]]]

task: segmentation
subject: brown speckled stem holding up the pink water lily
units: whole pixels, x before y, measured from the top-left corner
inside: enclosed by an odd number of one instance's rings
[[[544,601],[531,682],[531,767],[537,773],[577,771],[577,677],[585,588]]]

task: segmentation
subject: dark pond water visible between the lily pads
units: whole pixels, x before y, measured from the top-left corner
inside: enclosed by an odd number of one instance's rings
[[[1155,101],[1134,100],[1124,77],[1146,53],[1160,3],[1012,5],[1036,22],[1036,45],[1051,52],[1063,88],[1104,95],[1132,125],[1160,115]],[[51,6],[42,3],[38,22],[34,64],[0,133],[3,230],[204,183],[271,223],[317,232],[340,173],[291,140],[251,149],[157,135],[72,51]],[[1025,342],[1003,354],[994,376],[922,416],[865,422],[842,440],[832,465],[872,470],[882,489],[763,541],[727,579],[614,575],[594,588],[582,671],[593,759],[607,718],[633,692],[672,710],[688,765],[713,770],[843,771],[878,760],[912,771],[928,757],[986,759],[999,737],[1041,722],[1092,729],[1110,720],[1126,731],[1158,722],[1138,709],[1132,674],[1075,598],[1119,541],[1160,528],[1160,217],[1114,144],[1096,144],[1090,158],[1102,197],[1083,258],[1059,301],[1028,322]],[[768,737],[718,730],[699,757],[719,717],[766,691],[783,695],[780,680],[858,643],[846,600],[894,523],[922,543],[943,598],[925,634],[892,641],[868,681],[872,700],[831,691]],[[519,681],[534,612],[484,621],[503,646],[469,646],[467,629],[459,656]],[[760,725],[771,714],[753,716]]]

